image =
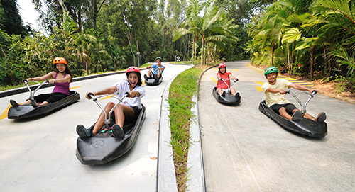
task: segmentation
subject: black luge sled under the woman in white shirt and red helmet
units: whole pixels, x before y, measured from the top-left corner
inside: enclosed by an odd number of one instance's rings
[[[96,100],[100,97],[102,96],[95,97],[94,100],[100,106],[100,108],[102,108],[102,106]],[[123,98],[121,98],[120,101],[122,101]],[[116,103],[116,106],[119,103]],[[114,108],[116,106],[114,106]],[[104,130],[104,128],[109,128],[114,125],[115,120],[114,118],[111,118],[111,112],[114,110],[114,108],[112,108],[112,110],[109,112],[109,115],[105,113],[105,125],[101,130]],[[131,122],[125,122],[123,128],[125,134],[123,138],[112,137],[111,132],[101,132],[101,130],[94,137],[87,137],[84,140],[78,137],[76,152],[77,159],[79,159],[82,164],[97,165],[106,164],[107,162],[121,157],[123,154],[128,152],[131,147],[133,147],[138,137],[138,132],[141,130],[141,126],[145,117],[146,107],[143,106],[141,113],[139,113],[138,118],[136,118],[136,120],[132,120]],[[92,125],[89,130],[92,131],[93,128],[94,125]]]

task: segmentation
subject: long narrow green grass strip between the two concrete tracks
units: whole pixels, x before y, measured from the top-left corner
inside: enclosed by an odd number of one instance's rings
[[[170,130],[178,191],[186,191],[187,154],[190,147],[190,121],[194,117],[191,111],[192,96],[198,91],[197,80],[203,68],[193,67],[175,78],[169,89]]]

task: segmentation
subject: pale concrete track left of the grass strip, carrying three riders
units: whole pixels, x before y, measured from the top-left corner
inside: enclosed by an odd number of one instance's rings
[[[0,120],[0,191],[155,191],[157,184],[158,130],[160,103],[170,79],[190,65],[164,62],[163,82],[147,86],[142,103],[146,119],[135,145],[124,156],[101,166],[83,165],[75,157],[77,124],[89,128],[101,110],[84,98],[88,91],[99,91],[126,79],[115,74],[70,84],[81,100],[55,113],[28,120]],[[146,74],[146,71],[141,71]],[[43,94],[53,87],[40,89]],[[0,98],[0,113],[9,100],[19,103],[28,92]],[[104,99],[102,105],[112,101]]]

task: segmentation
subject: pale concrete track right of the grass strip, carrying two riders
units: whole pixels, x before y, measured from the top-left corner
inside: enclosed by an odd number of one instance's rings
[[[212,96],[217,67],[200,81],[207,191],[354,191],[355,105],[315,95],[307,112],[327,113],[328,135],[297,135],[258,111],[264,97],[260,82],[266,79],[247,67],[248,62],[226,62],[227,72],[239,78],[234,84],[241,93],[239,106],[222,105]],[[302,95],[304,102],[307,95]]]

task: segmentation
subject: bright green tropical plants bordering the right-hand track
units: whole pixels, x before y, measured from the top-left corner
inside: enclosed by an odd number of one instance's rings
[[[349,0],[277,1],[253,18],[247,50],[256,64],[311,79],[346,79],[354,91],[354,6]]]

